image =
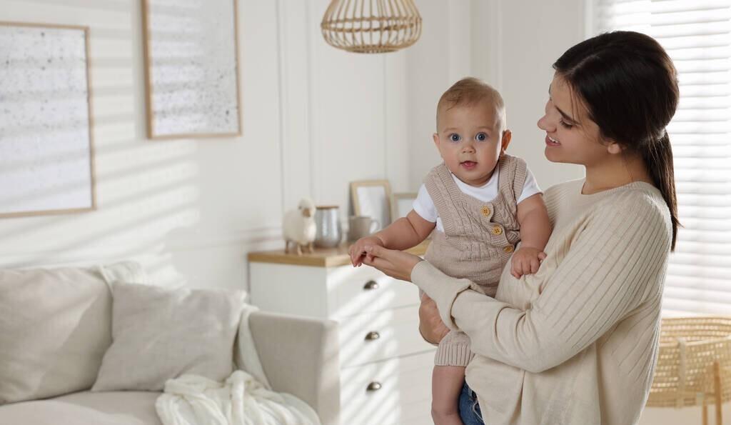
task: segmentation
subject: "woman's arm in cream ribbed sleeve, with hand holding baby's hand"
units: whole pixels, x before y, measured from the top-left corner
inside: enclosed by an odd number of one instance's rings
[[[384,271],[404,276],[408,270],[407,278],[436,301],[444,324],[470,336],[474,353],[542,372],[580,353],[661,290],[657,276],[670,249],[667,211],[630,198],[585,223],[526,311],[469,290],[474,283],[448,277],[425,261],[409,263],[380,247],[376,251],[387,255],[375,260],[388,265]]]

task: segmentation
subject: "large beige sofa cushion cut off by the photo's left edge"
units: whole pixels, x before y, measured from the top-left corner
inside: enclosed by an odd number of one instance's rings
[[[0,405],[91,387],[112,341],[105,277],[144,274],[137,263],[0,270]]]

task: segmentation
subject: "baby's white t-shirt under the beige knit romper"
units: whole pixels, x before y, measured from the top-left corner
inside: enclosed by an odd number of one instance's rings
[[[469,195],[472,198],[477,198],[482,202],[491,202],[497,198],[498,188],[500,187],[498,181],[500,173],[497,173],[497,169],[495,171],[496,172],[493,173],[490,180],[481,187],[470,186],[469,184],[461,181],[454,174],[450,174],[462,193]],[[542,193],[542,190],[538,187],[531,170],[526,168],[526,182],[523,184],[523,192],[520,193],[517,201],[518,203],[521,203],[523,200],[530,198],[537,193]],[[416,214],[419,214],[426,221],[436,222],[436,230],[444,232],[442,219],[439,218],[439,214],[436,212],[436,206],[434,206],[434,201],[431,199],[431,196],[429,196],[429,192],[423,184],[419,188],[419,194],[417,195],[416,200],[414,200],[414,211],[416,211]]]

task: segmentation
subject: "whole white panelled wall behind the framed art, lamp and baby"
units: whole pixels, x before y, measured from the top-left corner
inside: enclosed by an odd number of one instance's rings
[[[566,7],[541,3],[539,22],[524,24],[531,14],[518,12],[531,9],[526,4],[421,0],[416,45],[355,55],[322,40],[327,0],[240,0],[243,136],[152,141],[140,3],[0,0],[2,20],[91,28],[99,206],[1,219],[1,266],[133,257],[166,282],[246,287],[246,252],[281,246],[282,211],[301,197],[335,203],[345,219],[349,181],[387,178],[395,192],[417,189],[439,163],[431,142],[436,101],[465,75],[503,91],[515,133],[510,151],[529,160],[542,185],[580,176],[543,159],[535,127],[550,62],[579,27],[562,26],[552,49],[533,46],[523,31],[548,31]]]

